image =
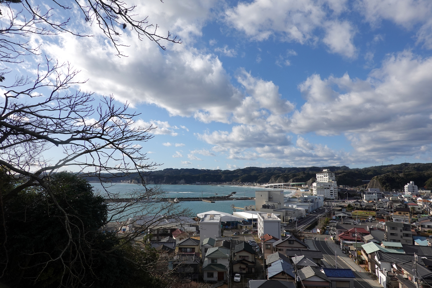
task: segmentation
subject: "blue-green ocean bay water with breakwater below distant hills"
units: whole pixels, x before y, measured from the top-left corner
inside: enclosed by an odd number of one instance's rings
[[[95,192],[101,193],[103,196],[104,191],[100,183],[90,183]],[[270,188],[259,188],[259,187],[246,187],[246,186],[231,186],[231,185],[147,185],[148,187],[160,186],[162,190],[165,191],[165,197],[171,197],[172,199],[176,197],[211,197],[211,196],[226,196],[231,192],[236,192],[234,197],[255,197],[255,190],[271,190]],[[142,186],[138,184],[127,184],[118,183],[111,187],[106,188],[109,192],[127,194],[131,190],[140,189]],[[286,190],[286,195],[291,194],[290,191]],[[203,201],[184,201],[180,202],[179,208],[189,208],[192,210],[194,215],[202,212],[207,212],[211,210],[232,213],[231,205],[234,204],[235,207],[243,208],[249,205],[255,205],[255,200],[222,200],[215,201],[215,203],[208,203]],[[158,205],[155,203],[155,205]]]

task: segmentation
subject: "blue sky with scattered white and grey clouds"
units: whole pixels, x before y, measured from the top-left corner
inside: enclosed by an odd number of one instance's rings
[[[35,38],[34,60],[69,62],[88,79],[76,88],[141,113],[157,128],[140,145],[161,169],[431,162],[430,0],[136,4],[182,44],[125,29],[117,57],[76,17],[95,37]]]

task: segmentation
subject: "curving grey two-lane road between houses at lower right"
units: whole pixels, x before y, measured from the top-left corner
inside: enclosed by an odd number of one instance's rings
[[[330,247],[328,247],[325,238],[321,238],[321,237],[314,237],[314,245],[318,250],[321,250],[321,252],[323,253],[324,256],[324,260],[328,263],[326,263],[325,265],[329,268],[345,268],[345,269],[351,269],[353,270],[354,275],[356,276],[356,279],[354,280],[354,287],[356,288],[377,288],[377,287],[381,287],[378,285],[378,283],[376,283],[375,281],[373,281],[369,276],[366,275],[360,275],[360,273],[358,271],[356,271],[356,269],[354,269],[353,265],[353,260],[351,260],[351,258],[349,258],[348,256],[340,256],[339,254],[337,255],[337,267],[336,267],[336,260],[335,260],[335,250],[332,250]],[[336,248],[339,249],[339,248]],[[365,274],[365,273],[361,273],[361,274]],[[368,279],[369,282],[374,283],[374,285],[372,286],[368,281],[366,281],[366,279]],[[375,285],[376,283],[376,285]]]

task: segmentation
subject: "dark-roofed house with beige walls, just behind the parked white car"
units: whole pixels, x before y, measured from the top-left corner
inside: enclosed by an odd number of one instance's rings
[[[252,274],[255,272],[255,250],[251,244],[241,242],[235,245],[232,269],[234,273]]]

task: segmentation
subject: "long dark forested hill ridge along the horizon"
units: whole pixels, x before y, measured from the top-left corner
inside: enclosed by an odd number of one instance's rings
[[[377,176],[385,190],[403,189],[409,181],[414,181],[419,187],[424,187],[427,180],[432,177],[432,163],[402,163],[398,165],[373,166],[368,168],[350,169],[346,166],[330,167],[247,167],[236,170],[209,170],[209,169],[173,169],[152,171],[145,176],[150,184],[192,184],[195,182],[255,182],[255,183],[286,183],[308,182],[313,183],[315,174],[322,169],[330,169],[336,173],[338,185],[357,187],[365,184],[362,180],[371,180]],[[89,178],[90,181],[95,180]],[[116,181],[140,182],[138,174],[130,177],[116,178]],[[431,180],[432,182],[432,180]]]

